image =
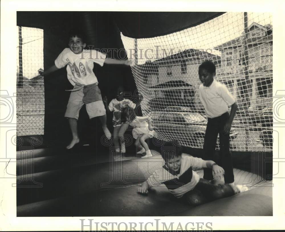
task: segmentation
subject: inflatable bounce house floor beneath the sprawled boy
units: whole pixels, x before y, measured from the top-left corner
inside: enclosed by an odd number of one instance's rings
[[[152,154],[18,151],[17,216],[272,216],[272,181],[236,168],[235,184],[249,190],[197,207],[177,201],[164,185],[139,194],[138,185],[163,165]],[[203,177],[202,169],[196,172]]]

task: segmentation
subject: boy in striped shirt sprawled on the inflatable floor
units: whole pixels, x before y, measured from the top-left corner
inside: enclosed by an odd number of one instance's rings
[[[200,178],[192,167],[208,168],[219,179],[223,177],[224,170],[212,160],[181,156],[182,147],[177,140],[166,142],[160,152],[165,165],[139,187],[140,193],[147,194],[149,188],[164,184],[175,197],[197,206],[246,190],[239,185],[231,186],[219,180],[208,181]]]

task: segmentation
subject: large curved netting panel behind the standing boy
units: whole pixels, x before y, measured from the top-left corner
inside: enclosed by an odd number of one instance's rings
[[[198,67],[211,60],[215,79],[238,103],[231,150],[271,151],[272,35],[268,13],[225,13],[155,38],[121,34],[128,58],[135,60],[131,68],[144,97],[142,111],[151,115],[156,138],[177,137],[185,146],[203,147],[207,118],[198,94]]]

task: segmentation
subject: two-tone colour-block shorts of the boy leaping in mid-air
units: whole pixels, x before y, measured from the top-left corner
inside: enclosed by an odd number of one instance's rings
[[[74,88],[76,87],[78,88],[78,86],[74,86]],[[86,104],[86,111],[90,119],[106,114],[97,83],[86,85],[70,93],[64,117],[78,119],[79,111],[84,104]]]

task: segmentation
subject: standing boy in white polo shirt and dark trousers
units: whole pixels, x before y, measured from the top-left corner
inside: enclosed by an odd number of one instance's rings
[[[237,110],[237,103],[227,87],[214,80],[216,74],[215,64],[205,61],[199,66],[199,78],[202,84],[199,86],[200,100],[208,117],[205,140],[203,146],[203,159],[213,160],[217,136],[220,140],[221,167],[225,170],[225,183],[234,186],[233,164],[229,148],[229,133]],[[231,105],[231,113],[228,106]],[[212,180],[212,171],[204,168],[204,179]]]

